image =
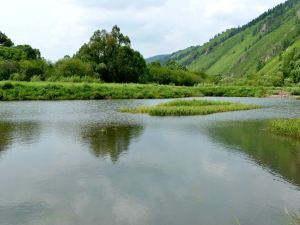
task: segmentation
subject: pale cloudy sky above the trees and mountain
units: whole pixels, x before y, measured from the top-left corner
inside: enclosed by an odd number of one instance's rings
[[[0,0],[0,31],[55,61],[114,25],[144,57],[207,42],[284,0]]]

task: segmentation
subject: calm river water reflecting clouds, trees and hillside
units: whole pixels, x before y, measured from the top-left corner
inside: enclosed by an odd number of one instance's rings
[[[220,99],[220,98],[216,98]],[[150,117],[162,100],[0,103],[0,225],[284,225],[300,210],[300,142],[268,133],[300,102]]]

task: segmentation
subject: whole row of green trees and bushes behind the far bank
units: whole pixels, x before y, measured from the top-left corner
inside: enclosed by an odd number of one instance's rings
[[[118,26],[110,32],[97,30],[73,56],[55,63],[42,58],[40,51],[30,45],[15,46],[0,32],[0,80],[194,85],[204,77],[175,62],[147,65]]]

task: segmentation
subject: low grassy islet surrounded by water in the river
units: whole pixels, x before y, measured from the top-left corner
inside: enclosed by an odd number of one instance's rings
[[[259,106],[241,103],[207,100],[175,100],[156,106],[121,108],[120,111],[126,113],[147,113],[151,116],[193,116],[257,108],[259,108]]]

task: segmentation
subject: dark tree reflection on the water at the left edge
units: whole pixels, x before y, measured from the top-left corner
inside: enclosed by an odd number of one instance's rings
[[[27,143],[38,138],[38,124],[31,122],[13,123],[0,121],[0,153],[15,142]]]

